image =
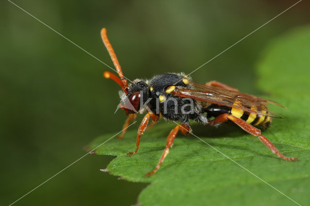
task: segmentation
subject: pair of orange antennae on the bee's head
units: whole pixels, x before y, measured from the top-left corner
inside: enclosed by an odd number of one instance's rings
[[[118,75],[120,76],[120,79],[116,75],[114,75],[110,72],[105,72],[104,77],[114,80],[117,84],[119,84],[122,87],[123,91],[126,94],[128,94],[127,80],[124,78],[121,65],[120,65],[119,61],[117,60],[117,57],[116,57],[115,52],[113,50],[113,47],[110,44],[110,41],[108,39],[107,29],[106,28],[101,29],[100,33],[101,33],[101,38],[102,38],[103,44],[105,44],[106,48],[108,49],[109,55],[113,61],[113,64],[116,68]]]

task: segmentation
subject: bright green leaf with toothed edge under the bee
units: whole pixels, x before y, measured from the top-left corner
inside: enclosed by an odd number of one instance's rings
[[[139,204],[149,205],[301,205],[310,202],[310,28],[302,28],[273,41],[258,66],[259,88],[268,92],[288,109],[271,107],[285,117],[274,119],[263,131],[279,151],[298,162],[286,162],[258,139],[234,125],[220,128],[192,125],[195,136],[178,135],[160,169],[151,177],[175,126],[156,125],[141,137],[137,154],[126,153],[136,148],[137,131],[126,133],[123,140],[111,139],[96,149],[97,154],[117,156],[108,166],[110,174],[128,181],[149,182],[139,196]],[[220,58],[220,57],[219,57]],[[241,88],[242,90],[242,88]],[[121,126],[121,125],[120,125]],[[94,148],[112,134],[91,143]],[[257,177],[255,177],[253,174]],[[259,178],[258,178],[259,177]],[[260,179],[261,178],[261,179]],[[272,187],[283,192],[281,194]]]

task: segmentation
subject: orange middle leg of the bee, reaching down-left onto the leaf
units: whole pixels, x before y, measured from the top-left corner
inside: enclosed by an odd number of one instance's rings
[[[183,134],[187,134],[190,132],[190,128],[188,125],[177,125],[171,132],[169,133],[167,137],[167,143],[166,143],[166,148],[164,149],[163,154],[161,155],[161,158],[159,159],[159,162],[157,163],[155,169],[149,173],[147,173],[145,176],[150,176],[153,175],[160,167],[160,165],[164,162],[165,157],[169,153],[169,148],[172,146],[173,140],[175,139],[176,134],[181,130]]]

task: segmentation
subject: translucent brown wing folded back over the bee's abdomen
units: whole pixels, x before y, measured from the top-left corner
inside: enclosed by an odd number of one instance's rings
[[[267,110],[268,104],[282,106],[279,103],[238,91],[206,86],[196,82],[193,82],[192,84],[194,88],[189,89],[177,87],[177,89],[171,94],[178,97],[195,99],[201,102],[234,107],[256,115],[282,118],[281,116]]]

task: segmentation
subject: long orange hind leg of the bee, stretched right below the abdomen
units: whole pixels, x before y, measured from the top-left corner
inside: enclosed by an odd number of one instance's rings
[[[279,158],[286,160],[286,161],[297,161],[297,158],[295,157],[289,158],[281,154],[279,150],[277,149],[277,147],[275,147],[265,136],[261,134],[261,131],[259,129],[248,124],[246,121],[240,118],[234,117],[233,115],[229,115],[229,114],[219,115],[217,118],[212,120],[210,124],[217,125],[227,120],[233,121],[234,123],[236,123],[239,127],[241,127],[244,131],[248,132],[249,134],[252,134],[253,136],[258,136],[258,138],[263,142],[263,144],[267,146],[273,153],[277,154]]]

